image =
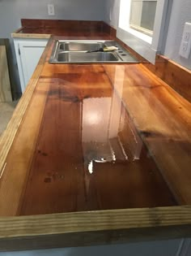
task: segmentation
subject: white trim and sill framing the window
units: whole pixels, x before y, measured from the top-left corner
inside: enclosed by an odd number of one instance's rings
[[[117,37],[143,58],[151,63],[155,63],[155,55],[162,48],[163,28],[168,11],[168,0],[158,0],[157,2],[152,37],[138,32],[133,28],[129,28],[130,2],[131,0],[121,0]]]

